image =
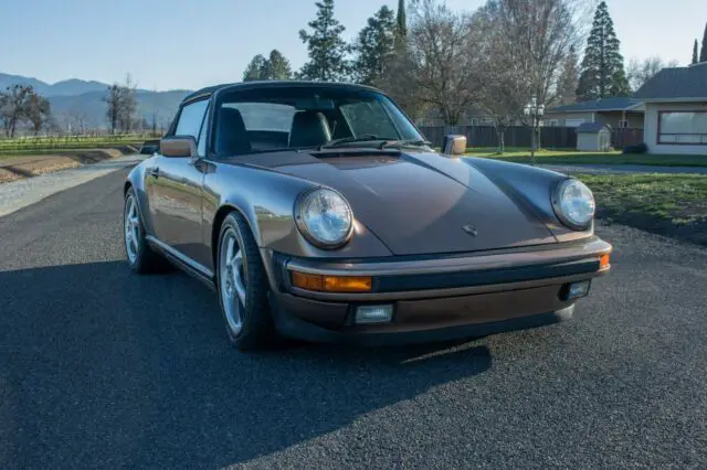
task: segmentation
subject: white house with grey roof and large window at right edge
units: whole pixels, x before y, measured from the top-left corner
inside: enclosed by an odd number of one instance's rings
[[[633,97],[645,104],[650,153],[707,157],[707,62],[663,68]]]

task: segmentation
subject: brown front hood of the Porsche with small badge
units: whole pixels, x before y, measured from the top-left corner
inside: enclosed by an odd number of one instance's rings
[[[288,152],[241,163],[339,191],[356,220],[394,255],[557,243],[527,205],[458,159],[418,152],[331,158]]]

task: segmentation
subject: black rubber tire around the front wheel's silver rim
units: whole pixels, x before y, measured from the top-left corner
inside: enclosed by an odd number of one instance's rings
[[[226,234],[235,236],[235,241],[243,257],[243,279],[245,285],[245,302],[241,303],[241,329],[234,332],[226,319],[224,296],[222,295],[222,252],[226,249],[224,239]],[[240,351],[262,350],[277,345],[279,337],[270,311],[267,292],[270,284],[263,267],[257,244],[245,218],[238,212],[226,215],[219,233],[217,255],[217,291],[219,305],[225,323],[225,330],[231,344]]]

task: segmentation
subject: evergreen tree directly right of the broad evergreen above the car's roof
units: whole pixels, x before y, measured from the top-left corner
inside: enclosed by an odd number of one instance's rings
[[[368,24],[358,34],[355,45],[355,79],[366,85],[373,85],[386,72],[391,60],[395,42],[394,12],[382,6],[376,14],[368,19]]]

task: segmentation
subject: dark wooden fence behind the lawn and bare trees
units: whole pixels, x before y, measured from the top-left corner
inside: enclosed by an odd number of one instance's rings
[[[466,136],[467,147],[498,147],[498,131],[494,126],[430,126],[420,130],[435,147],[442,146],[442,139],[449,133]],[[530,128],[525,126],[507,127],[506,147],[530,147]],[[612,129],[611,145],[615,149],[643,142],[643,129]],[[577,148],[577,129],[573,127],[541,127],[540,147],[546,149]]]

